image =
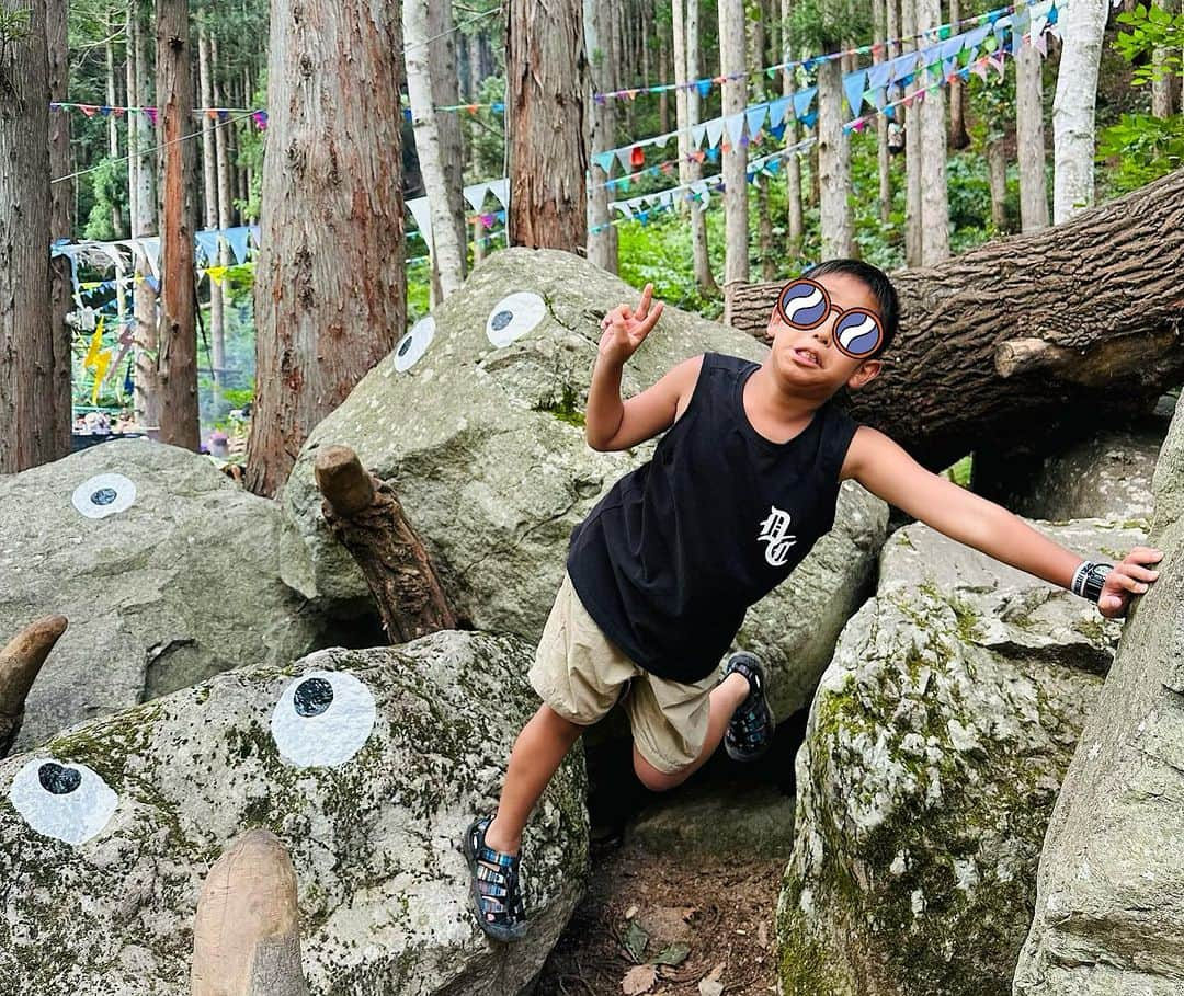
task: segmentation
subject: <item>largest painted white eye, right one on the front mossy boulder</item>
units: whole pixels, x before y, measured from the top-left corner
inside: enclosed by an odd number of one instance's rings
[[[281,757],[297,768],[345,764],[374,729],[374,696],[353,674],[309,671],[296,678],[271,713]]]

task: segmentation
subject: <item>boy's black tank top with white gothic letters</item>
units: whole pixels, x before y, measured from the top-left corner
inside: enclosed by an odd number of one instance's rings
[[[716,667],[745,610],[835,523],[857,425],[834,399],[793,439],[758,433],[744,384],[759,363],[716,353],[652,459],[572,531],[567,571],[604,634],[662,678]]]

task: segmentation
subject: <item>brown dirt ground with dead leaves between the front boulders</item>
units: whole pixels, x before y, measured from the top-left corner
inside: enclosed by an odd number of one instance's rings
[[[646,996],[776,992],[773,912],[783,860],[671,861],[636,843],[597,848],[587,893],[543,965],[538,996],[610,996],[638,963],[658,965]],[[681,945],[681,946],[676,946]],[[631,950],[632,948],[632,950]],[[722,968],[719,968],[722,966]],[[632,976],[644,985],[646,972]],[[700,982],[719,982],[722,989]]]

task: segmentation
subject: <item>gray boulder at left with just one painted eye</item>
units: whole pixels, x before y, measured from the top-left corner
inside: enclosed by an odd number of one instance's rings
[[[148,440],[0,476],[0,642],[50,613],[70,628],[28,696],[18,749],[318,646],[317,614],[279,578],[276,503]]]

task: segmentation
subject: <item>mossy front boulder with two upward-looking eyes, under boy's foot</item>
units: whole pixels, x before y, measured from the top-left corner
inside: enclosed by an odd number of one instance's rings
[[[458,632],[321,651],[219,674],[0,762],[0,988],[188,994],[202,879],[262,826],[291,854],[314,996],[519,992],[583,887],[579,749],[527,829],[526,940],[480,932],[457,841],[494,804],[533,710],[528,655],[513,638]]]

